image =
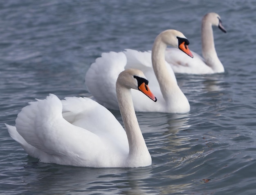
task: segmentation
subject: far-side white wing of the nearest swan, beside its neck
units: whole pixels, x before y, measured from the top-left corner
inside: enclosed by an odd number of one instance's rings
[[[66,97],[62,100],[63,118],[75,126],[90,130],[99,137],[126,138],[126,133],[115,116],[90,98]]]

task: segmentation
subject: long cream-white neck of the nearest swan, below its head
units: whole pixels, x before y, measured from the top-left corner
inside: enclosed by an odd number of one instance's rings
[[[116,85],[116,90],[119,109],[124,121],[124,128],[129,143],[128,160],[139,161],[140,159],[150,158],[149,160],[151,161],[151,156],[148,152],[135,114],[131,90],[118,83]]]

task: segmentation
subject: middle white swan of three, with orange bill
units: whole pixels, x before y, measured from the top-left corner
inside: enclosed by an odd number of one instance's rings
[[[150,52],[138,52],[127,49],[125,52],[103,53],[91,65],[85,76],[85,83],[95,100],[106,108],[118,110],[115,82],[119,72],[128,68],[142,70],[153,83],[151,90],[157,96],[157,103],[149,101],[137,91],[132,91],[135,111],[140,112],[174,112],[190,111],[189,101],[177,85],[177,81],[170,65],[164,60],[167,45],[177,47],[186,54],[192,54],[187,45],[189,41],[179,31],[166,30],[156,38]],[[104,81],[104,82],[102,82]],[[143,101],[137,101],[143,99]]]

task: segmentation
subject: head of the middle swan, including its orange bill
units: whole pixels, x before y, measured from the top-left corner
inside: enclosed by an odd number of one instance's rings
[[[169,29],[162,31],[157,38],[160,38],[163,43],[180,49],[185,54],[193,58],[193,54],[189,50],[189,40],[180,31]]]

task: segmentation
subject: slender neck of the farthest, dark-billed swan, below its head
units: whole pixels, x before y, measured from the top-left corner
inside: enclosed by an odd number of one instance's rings
[[[202,55],[206,64],[213,69],[214,72],[224,72],[224,67],[217,56],[214,39],[213,29],[210,22],[202,20]]]

